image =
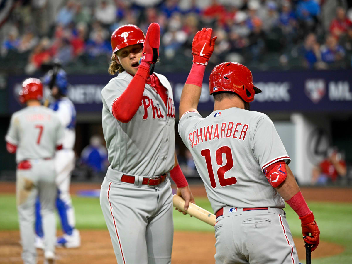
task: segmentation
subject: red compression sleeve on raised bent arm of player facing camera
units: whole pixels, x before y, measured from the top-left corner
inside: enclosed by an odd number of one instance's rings
[[[150,63],[142,62],[126,90],[111,106],[112,114],[122,123],[129,122],[136,114],[149,75]]]

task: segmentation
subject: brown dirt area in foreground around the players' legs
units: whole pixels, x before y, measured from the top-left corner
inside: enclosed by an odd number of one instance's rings
[[[116,263],[107,230],[80,230],[82,246],[78,249],[57,249],[57,264],[87,264]],[[18,231],[0,232],[0,263],[20,264],[21,246]],[[214,233],[175,232],[172,250],[174,264],[210,264],[215,263]],[[295,239],[300,259],[305,258],[302,239]],[[339,254],[343,247],[321,241],[319,247],[312,253],[312,259]],[[43,263],[43,251],[38,252],[38,264]]]

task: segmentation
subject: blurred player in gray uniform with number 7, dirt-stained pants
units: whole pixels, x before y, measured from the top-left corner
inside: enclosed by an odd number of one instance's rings
[[[19,217],[22,258],[24,263],[37,263],[34,247],[34,215],[39,195],[43,215],[44,257],[55,258],[55,168],[52,159],[62,148],[63,127],[54,111],[40,105],[43,85],[37,78],[26,79],[20,101],[27,107],[11,117],[6,134],[7,150],[16,153],[16,199]]]

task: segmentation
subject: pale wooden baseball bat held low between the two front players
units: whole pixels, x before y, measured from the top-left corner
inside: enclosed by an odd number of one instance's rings
[[[195,218],[203,222],[206,222],[209,225],[212,225],[212,226],[215,225],[215,215],[208,212],[206,209],[199,207],[194,203],[190,202],[187,211],[185,211],[183,209],[185,201],[181,196],[178,196],[176,194],[174,194],[172,201],[174,202],[174,206],[178,209],[181,209],[183,212],[186,212],[187,214],[194,216]]]

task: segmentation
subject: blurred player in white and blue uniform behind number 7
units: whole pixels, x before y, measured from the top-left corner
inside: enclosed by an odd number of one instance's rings
[[[67,97],[68,81],[66,72],[58,69],[55,74],[50,70],[44,77],[43,83],[51,89],[51,95],[55,99],[50,103],[49,108],[55,111],[57,117],[64,127],[63,148],[55,154],[57,199],[56,207],[61,220],[63,236],[58,237],[56,246],[68,248],[81,245],[80,232],[75,228],[75,211],[70,195],[71,171],[75,167],[75,152],[73,147],[76,139],[76,109],[74,104]],[[36,204],[36,246],[41,247],[43,237],[41,216],[39,213],[40,204]]]

